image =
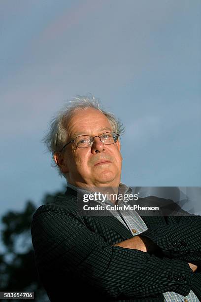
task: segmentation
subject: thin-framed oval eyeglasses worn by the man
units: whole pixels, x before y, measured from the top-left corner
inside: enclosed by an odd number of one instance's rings
[[[72,142],[74,142],[75,146],[78,148],[91,147],[94,143],[95,137],[99,137],[100,141],[105,145],[115,144],[117,142],[119,136],[120,135],[116,132],[105,132],[105,133],[102,133],[100,136],[97,135],[94,137],[89,136],[89,135],[79,135],[79,136],[75,137],[73,140],[71,140],[70,142],[68,142],[66,145],[64,145],[64,147],[62,148],[61,151],[63,151],[64,148],[66,148],[66,146]]]

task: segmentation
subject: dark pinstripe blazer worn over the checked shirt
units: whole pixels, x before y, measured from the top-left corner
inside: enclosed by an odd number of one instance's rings
[[[187,296],[190,289],[201,300],[201,272],[188,265],[201,264],[201,217],[142,218],[148,227],[142,235],[159,246],[157,255],[112,246],[133,234],[110,214],[80,215],[70,188],[40,206],[32,242],[50,301],[156,302],[164,301],[164,292]]]

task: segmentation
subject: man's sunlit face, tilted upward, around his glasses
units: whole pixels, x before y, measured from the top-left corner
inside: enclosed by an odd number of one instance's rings
[[[113,131],[106,116],[100,111],[87,108],[77,110],[67,123],[67,142],[79,135],[100,136]],[[99,163],[105,160],[105,163]],[[99,137],[94,138],[91,147],[76,148],[72,142],[62,151],[57,160],[67,181],[78,187],[118,187],[121,177],[122,156],[120,142],[104,145]]]

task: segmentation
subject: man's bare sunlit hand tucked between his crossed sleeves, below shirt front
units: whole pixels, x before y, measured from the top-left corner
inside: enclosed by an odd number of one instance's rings
[[[153,241],[145,236],[134,236],[133,238],[121,241],[114,244],[114,246],[121,246],[127,249],[139,250],[142,252],[154,252],[159,247]]]

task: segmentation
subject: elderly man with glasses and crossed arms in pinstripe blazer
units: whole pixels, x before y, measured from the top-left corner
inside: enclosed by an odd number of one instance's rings
[[[67,179],[67,191],[33,215],[40,280],[51,302],[199,301],[201,217],[80,211],[80,192],[131,193],[120,182],[121,131],[120,121],[100,109],[94,97],[73,99],[52,120],[44,142]],[[92,204],[118,205],[120,200]]]

